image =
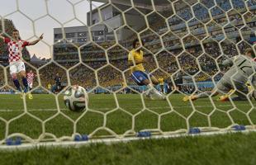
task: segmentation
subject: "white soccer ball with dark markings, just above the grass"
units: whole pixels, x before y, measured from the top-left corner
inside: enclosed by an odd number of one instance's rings
[[[88,94],[81,86],[69,87],[64,92],[64,104],[70,111],[83,111],[88,104]]]

